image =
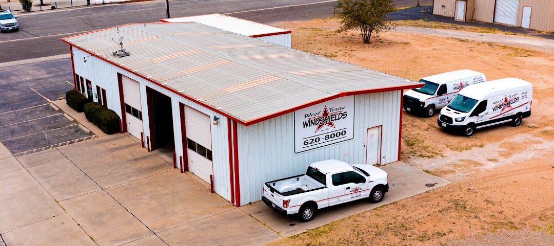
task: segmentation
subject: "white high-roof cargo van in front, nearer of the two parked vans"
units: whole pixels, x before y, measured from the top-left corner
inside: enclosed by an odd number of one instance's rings
[[[446,129],[458,129],[471,136],[475,129],[511,122],[531,116],[533,87],[519,78],[502,78],[471,85],[461,90],[440,111],[437,123]]]

